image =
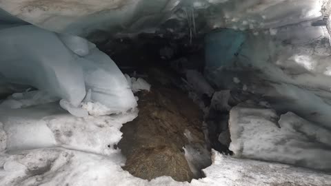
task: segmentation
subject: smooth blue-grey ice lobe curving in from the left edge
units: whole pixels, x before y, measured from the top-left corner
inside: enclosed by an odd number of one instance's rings
[[[57,34],[22,25],[0,30],[0,73],[78,106],[86,91],[81,66]]]

